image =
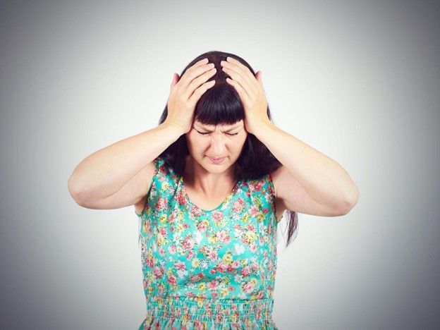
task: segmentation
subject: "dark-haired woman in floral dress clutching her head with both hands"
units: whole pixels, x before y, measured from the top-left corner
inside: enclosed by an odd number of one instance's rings
[[[261,71],[209,51],[174,75],[159,126],[73,171],[82,207],[135,206],[147,313],[140,329],[277,329],[276,226],[347,214],[355,183],[271,121]]]

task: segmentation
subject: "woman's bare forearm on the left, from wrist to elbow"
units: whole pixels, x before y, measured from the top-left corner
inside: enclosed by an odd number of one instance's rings
[[[75,167],[68,189],[71,194],[87,192],[97,198],[113,195],[182,134],[176,126],[163,123],[99,149]]]

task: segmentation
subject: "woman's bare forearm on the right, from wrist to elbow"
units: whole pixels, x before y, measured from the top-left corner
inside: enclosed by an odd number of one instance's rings
[[[345,207],[357,198],[357,187],[347,171],[317,149],[273,123],[261,126],[255,136],[320,204]]]

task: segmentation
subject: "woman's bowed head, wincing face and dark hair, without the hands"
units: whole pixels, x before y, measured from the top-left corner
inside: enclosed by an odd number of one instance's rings
[[[182,176],[185,171],[188,155],[204,166],[207,171],[213,173],[221,173],[229,166],[236,165],[239,179],[243,180],[260,178],[281,166],[281,163],[271,154],[269,149],[255,135],[247,133],[245,130],[243,124],[245,111],[240,96],[234,87],[226,82],[226,78],[231,78],[231,76],[225,73],[220,65],[220,62],[226,61],[228,56],[247,66],[255,76],[254,69],[244,59],[223,51],[208,51],[200,54],[188,63],[180,75],[181,77],[188,68],[204,58],[207,58],[209,63],[214,63],[217,69],[209,79],[215,80],[214,86],[202,94],[195,106],[191,130],[181,135],[176,142],[173,142],[159,155],[178,176]],[[167,115],[168,105],[166,104],[159,124],[164,123]],[[267,106],[267,117],[272,121],[269,106]],[[226,132],[230,128],[234,129]],[[201,133],[209,134],[202,135]],[[238,135],[228,135],[227,133],[238,133]],[[222,164],[214,164],[209,157],[226,158]],[[288,243],[298,223],[295,212],[292,214]]]

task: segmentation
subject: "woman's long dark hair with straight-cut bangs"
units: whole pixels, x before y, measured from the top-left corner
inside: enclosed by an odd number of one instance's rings
[[[226,77],[231,77],[221,70],[220,61],[226,61],[227,56],[233,57],[240,61],[240,63],[243,63],[255,76],[255,71],[244,59],[231,53],[225,53],[224,51],[208,51],[197,56],[183,69],[180,75],[180,77],[182,77],[188,68],[204,58],[207,58],[209,63],[214,63],[216,67],[216,73],[212,78],[209,78],[209,80],[216,80],[214,86],[202,94],[202,97],[200,97],[195,106],[194,117],[197,121],[200,121],[200,123],[214,126],[219,124],[231,125],[245,118],[245,111],[240,96],[235,88],[226,82]],[[168,102],[159,119],[159,125],[164,123],[166,116],[168,116]],[[272,121],[269,106],[267,106],[267,116],[269,120]],[[165,164],[170,166],[178,176],[183,176],[186,156],[188,154],[188,145],[186,137],[183,134],[176,142],[173,142],[164,152],[159,154],[159,157],[164,159]],[[255,135],[250,133],[247,134],[245,145],[243,146],[240,157],[237,159],[237,164],[239,179],[243,180],[260,178],[281,166],[280,161],[274,157],[269,149],[267,149]],[[298,216],[296,212],[290,210],[286,210],[284,214],[286,213],[289,218],[287,247],[291,243],[291,237],[298,227]]]

